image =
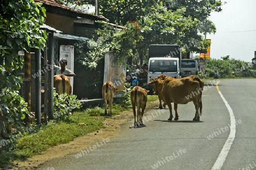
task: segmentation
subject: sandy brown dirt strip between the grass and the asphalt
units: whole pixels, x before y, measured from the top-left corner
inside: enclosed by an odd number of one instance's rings
[[[158,107],[159,101],[154,101],[147,103],[147,109]],[[117,134],[117,131],[121,129],[121,125],[127,121],[133,120],[133,112],[125,111],[113,118],[106,118],[104,120],[104,129],[94,131],[93,133],[88,133],[82,137],[75,138],[74,141],[51,147],[46,151],[43,151],[39,155],[35,155],[32,158],[28,158],[25,161],[16,161],[14,162],[13,169],[37,169],[40,164],[47,162],[48,160],[59,158],[71,154],[73,152],[81,151],[81,148],[86,148],[93,145],[97,141],[102,140],[103,138],[114,137]]]

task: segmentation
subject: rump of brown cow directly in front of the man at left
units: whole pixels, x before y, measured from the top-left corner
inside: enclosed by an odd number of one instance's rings
[[[59,95],[64,93],[71,95],[72,87],[69,82],[69,76],[65,76],[64,74],[53,76],[53,87],[56,88],[56,92]]]

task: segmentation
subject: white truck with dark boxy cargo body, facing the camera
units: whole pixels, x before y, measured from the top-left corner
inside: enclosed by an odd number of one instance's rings
[[[180,78],[181,50],[179,45],[152,44],[148,47],[147,81],[164,74]]]

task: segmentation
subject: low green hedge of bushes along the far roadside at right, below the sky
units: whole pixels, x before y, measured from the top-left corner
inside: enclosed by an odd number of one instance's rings
[[[222,60],[223,59],[223,60]],[[222,59],[207,59],[205,63],[206,78],[214,77],[214,70],[218,70],[219,78],[236,78],[236,77],[255,77],[256,72],[253,70],[253,64],[229,56]]]

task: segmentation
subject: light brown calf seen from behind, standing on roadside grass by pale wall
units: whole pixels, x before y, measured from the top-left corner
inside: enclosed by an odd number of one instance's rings
[[[117,88],[112,82],[105,82],[102,86],[102,97],[105,103],[105,114],[107,114],[107,100],[109,100],[109,116],[112,116],[112,103]]]

